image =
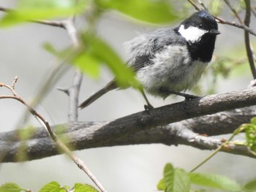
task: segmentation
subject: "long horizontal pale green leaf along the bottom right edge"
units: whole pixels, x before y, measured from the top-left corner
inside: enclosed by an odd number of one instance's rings
[[[217,174],[189,173],[190,182],[196,185],[219,188],[227,191],[241,191],[241,186],[235,180]]]

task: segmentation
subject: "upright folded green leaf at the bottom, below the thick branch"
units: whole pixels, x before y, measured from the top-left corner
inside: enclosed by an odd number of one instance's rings
[[[166,192],[189,191],[190,182],[187,172],[183,169],[174,169],[172,164],[166,164],[164,169],[164,179],[157,185],[159,190],[165,189]]]

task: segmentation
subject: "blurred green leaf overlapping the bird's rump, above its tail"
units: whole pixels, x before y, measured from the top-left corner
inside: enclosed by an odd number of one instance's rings
[[[81,37],[84,50],[74,58],[75,66],[90,72],[91,75],[97,75],[99,72],[99,64],[106,64],[108,68],[115,74],[116,82],[121,88],[132,86],[140,88],[140,83],[135,79],[135,73],[129,66],[124,64],[118,54],[102,39],[91,34],[82,34]],[[87,66],[86,66],[87,65]],[[92,69],[92,68],[96,69]]]

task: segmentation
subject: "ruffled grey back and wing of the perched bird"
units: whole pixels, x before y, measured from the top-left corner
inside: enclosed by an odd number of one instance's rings
[[[152,64],[151,59],[154,55],[167,45],[176,44],[187,45],[187,42],[173,28],[160,28],[148,34],[141,34],[124,45],[132,53],[128,64],[136,72],[143,66]]]

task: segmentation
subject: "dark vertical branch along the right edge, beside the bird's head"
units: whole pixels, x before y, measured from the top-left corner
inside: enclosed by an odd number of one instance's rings
[[[251,18],[251,1],[250,0],[244,0],[245,5],[246,5],[246,13],[245,13],[245,18],[244,18],[244,25],[249,27],[250,23],[250,18]],[[252,76],[254,79],[256,79],[256,69],[255,69],[255,62],[253,58],[253,52],[252,48],[250,45],[250,40],[249,40],[249,33],[248,31],[244,31],[244,42],[245,42],[245,47],[246,47],[246,53],[247,53],[247,58],[249,61],[249,66],[252,71]]]

